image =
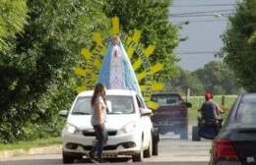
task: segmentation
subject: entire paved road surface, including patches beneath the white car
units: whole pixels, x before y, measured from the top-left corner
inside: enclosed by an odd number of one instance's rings
[[[190,132],[191,133],[191,132]],[[169,164],[169,165],[207,165],[210,159],[211,140],[192,141],[179,139],[167,134],[160,136],[159,156],[145,158],[143,163],[133,163],[130,158],[109,159],[111,164]],[[88,158],[76,161],[76,164],[92,162]],[[0,165],[61,165],[61,154],[43,154],[1,158]]]

